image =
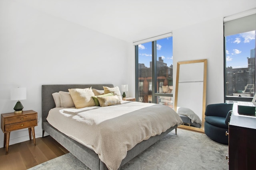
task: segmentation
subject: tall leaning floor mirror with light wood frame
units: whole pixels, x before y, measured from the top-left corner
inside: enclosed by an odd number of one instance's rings
[[[182,118],[179,127],[204,132],[207,59],[177,63],[174,110]]]

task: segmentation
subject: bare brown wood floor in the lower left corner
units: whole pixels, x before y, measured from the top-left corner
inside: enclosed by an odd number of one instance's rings
[[[10,145],[8,155],[0,148],[0,170],[26,170],[66,153],[52,137],[36,138],[36,146],[33,140]]]

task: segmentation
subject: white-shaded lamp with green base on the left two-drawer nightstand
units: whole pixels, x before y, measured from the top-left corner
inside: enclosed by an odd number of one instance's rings
[[[16,105],[14,106],[14,113],[22,113],[22,109],[24,108],[20,102],[20,100],[25,100],[27,98],[26,88],[13,88],[11,89],[11,100],[18,100]]]

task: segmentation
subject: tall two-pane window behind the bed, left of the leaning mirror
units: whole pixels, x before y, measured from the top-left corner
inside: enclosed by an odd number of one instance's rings
[[[172,107],[172,36],[141,43],[136,51],[136,99]]]

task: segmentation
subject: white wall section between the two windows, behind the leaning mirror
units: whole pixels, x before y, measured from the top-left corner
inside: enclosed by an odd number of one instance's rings
[[[174,79],[177,62],[207,59],[206,105],[224,102],[223,19],[173,30]]]

